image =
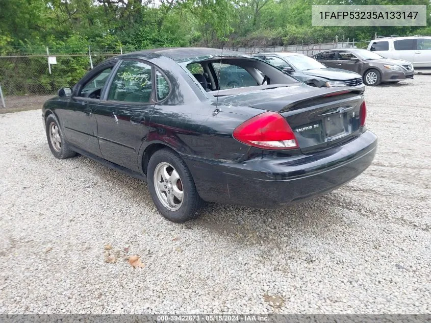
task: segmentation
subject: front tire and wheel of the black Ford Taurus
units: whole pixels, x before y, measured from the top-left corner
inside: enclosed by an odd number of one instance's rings
[[[69,144],[66,142],[66,138],[60,128],[60,123],[54,114],[47,116],[45,131],[49,149],[55,158],[65,159],[77,155],[77,153],[70,149]]]

